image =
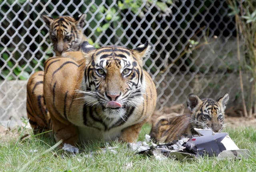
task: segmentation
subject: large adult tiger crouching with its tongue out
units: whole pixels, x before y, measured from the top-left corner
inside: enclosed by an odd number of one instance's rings
[[[82,44],[83,59],[52,57],[28,80],[27,114],[56,141],[136,141],[156,106],[156,88],[142,69],[148,42],[136,49]],[[76,52],[74,52],[75,54]]]

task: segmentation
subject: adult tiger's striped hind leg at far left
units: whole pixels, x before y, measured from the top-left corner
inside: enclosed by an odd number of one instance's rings
[[[27,84],[26,110],[34,133],[50,130],[50,115],[43,95],[44,72],[34,73]]]

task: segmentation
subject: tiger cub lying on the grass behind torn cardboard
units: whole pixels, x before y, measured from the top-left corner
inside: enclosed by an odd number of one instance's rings
[[[169,118],[160,116],[152,124],[150,136],[153,141],[166,143],[180,139],[183,135],[196,135],[194,128],[221,131],[224,124],[224,110],[229,95],[226,93],[217,101],[207,98],[200,100],[195,94],[189,94],[186,100],[191,115],[180,115]]]

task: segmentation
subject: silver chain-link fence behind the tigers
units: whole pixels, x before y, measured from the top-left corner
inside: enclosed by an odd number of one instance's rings
[[[96,47],[135,48],[149,40],[153,52],[144,68],[157,87],[157,109],[184,104],[192,92],[212,98],[229,92],[232,102],[240,90],[235,22],[226,1],[0,2],[0,121],[26,117],[26,80],[53,56],[42,14],[87,14],[84,33]]]

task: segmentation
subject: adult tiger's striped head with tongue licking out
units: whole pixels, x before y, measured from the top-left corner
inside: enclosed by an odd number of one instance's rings
[[[81,49],[87,66],[86,104],[102,106],[110,117],[120,110],[142,106],[146,89],[142,59],[150,51],[148,41],[136,49],[116,46],[95,49],[84,42]]]

